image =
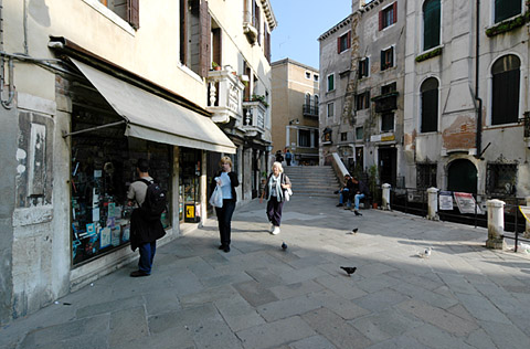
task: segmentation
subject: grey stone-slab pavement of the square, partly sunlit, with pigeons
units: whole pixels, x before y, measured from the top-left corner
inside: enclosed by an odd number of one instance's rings
[[[486,250],[485,229],[335,204],[295,194],[278,235],[265,203],[237,208],[230,253],[209,220],[151,276],[118,269],[3,327],[0,347],[530,348],[528,256]]]

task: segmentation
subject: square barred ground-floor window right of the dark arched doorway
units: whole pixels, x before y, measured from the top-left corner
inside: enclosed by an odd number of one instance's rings
[[[510,195],[516,193],[517,163],[488,163],[486,170],[486,192]]]

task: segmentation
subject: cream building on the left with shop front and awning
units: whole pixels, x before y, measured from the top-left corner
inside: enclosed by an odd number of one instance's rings
[[[221,156],[252,197],[271,121],[258,136],[243,125],[245,83],[271,91],[276,24],[266,0],[2,2],[4,324],[137,257],[126,192],[139,158],[168,190],[161,243],[209,215]]]

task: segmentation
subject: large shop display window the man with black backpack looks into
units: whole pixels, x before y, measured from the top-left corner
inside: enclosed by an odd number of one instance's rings
[[[91,99],[94,103],[94,98]],[[74,106],[72,131],[118,120],[113,112]],[[168,192],[171,202],[172,147],[124,136],[114,126],[72,136],[72,258],[73,264],[95,258],[129,242],[128,184],[137,179],[139,158],[148,159],[149,174]],[[162,213],[165,228],[169,212]]]

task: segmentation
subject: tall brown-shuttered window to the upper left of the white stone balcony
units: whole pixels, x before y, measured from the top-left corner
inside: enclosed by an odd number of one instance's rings
[[[180,63],[203,77],[211,66],[211,35],[208,2],[180,0]]]

